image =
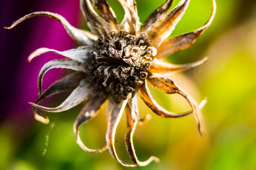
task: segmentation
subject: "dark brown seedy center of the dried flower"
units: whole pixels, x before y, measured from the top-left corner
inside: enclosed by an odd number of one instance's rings
[[[109,38],[100,37],[93,45],[88,65],[88,81],[99,90],[104,90],[116,101],[140,87],[148,76],[147,69],[156,48],[150,46],[151,39],[145,33],[140,37],[127,32],[109,32]]]

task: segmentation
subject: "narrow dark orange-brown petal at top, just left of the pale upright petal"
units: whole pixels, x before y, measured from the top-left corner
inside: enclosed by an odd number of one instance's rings
[[[106,0],[93,0],[93,4],[95,4],[100,16],[106,20],[106,22],[112,24],[117,30],[116,16],[108,2]]]

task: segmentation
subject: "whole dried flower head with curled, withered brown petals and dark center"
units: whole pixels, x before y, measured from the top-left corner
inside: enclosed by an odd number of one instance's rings
[[[147,117],[139,118],[138,116],[138,95],[154,113],[161,117],[177,118],[194,113],[200,134],[205,133],[200,110],[206,101],[203,100],[200,104],[196,103],[189,94],[168,77],[177,71],[200,66],[207,58],[182,65],[169,64],[159,59],[184,50],[194,43],[195,39],[211,24],[216,13],[216,3],[212,0],[211,17],[203,27],[193,32],[168,38],[188,8],[189,0],[180,1],[172,11],[168,10],[173,0],[167,0],[150,14],[142,26],[135,0],[118,0],[118,2],[125,11],[124,20],[120,24],[118,24],[115,14],[106,0],[93,0],[93,3],[90,0],[80,1],[81,11],[92,33],[73,27],[61,15],[44,11],[30,13],[6,28],[12,29],[27,18],[45,16],[61,22],[68,34],[81,44],[78,48],[63,52],[39,48],[28,57],[30,61],[45,52],[54,52],[67,57],[67,59],[47,62],[39,73],[38,90],[40,97],[35,103],[30,103],[34,107],[36,120],[44,123],[49,122],[48,118],[36,113],[37,109],[60,112],[85,102],[84,108],[74,123],[77,144],[86,152],[102,152],[108,149],[112,157],[123,166],[146,166],[152,160],[158,161],[159,159],[150,157],[141,162],[136,157],[132,136],[138,122],[147,119]],[[100,16],[94,7],[97,8]],[[72,69],[76,72],[56,81],[42,92],[44,74],[53,68]],[[166,94],[180,94],[188,101],[192,110],[179,114],[164,110],[151,96],[147,81]],[[67,91],[72,92],[60,106],[48,108],[39,105],[45,98]],[[100,106],[106,100],[108,100],[106,146],[92,150],[81,141],[79,127],[95,117]],[[126,110],[128,125],[125,145],[134,164],[127,164],[120,160],[115,150],[116,127],[124,110]]]

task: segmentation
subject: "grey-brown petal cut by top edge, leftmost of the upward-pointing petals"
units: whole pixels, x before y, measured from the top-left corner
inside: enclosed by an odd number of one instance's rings
[[[80,8],[87,21],[88,27],[97,36],[108,37],[108,33],[115,30],[112,24],[109,24],[97,15],[90,0],[80,0]]]

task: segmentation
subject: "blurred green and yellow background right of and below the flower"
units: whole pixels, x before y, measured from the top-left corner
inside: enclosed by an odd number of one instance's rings
[[[122,20],[124,11],[120,5],[115,0],[109,3],[118,20]],[[137,3],[143,23],[164,0]],[[179,64],[210,57],[203,66],[173,75],[196,101],[208,98],[202,111],[207,137],[199,135],[193,115],[161,118],[140,100],[141,117],[150,113],[152,119],[138,125],[134,134],[138,158],[145,160],[154,155],[161,162],[134,169],[256,169],[256,1],[216,0],[216,3],[218,8],[211,27],[194,45],[166,59]],[[201,27],[210,13],[211,0],[191,0],[172,36]],[[182,97],[151,89],[164,108],[189,109]],[[52,104],[57,103],[60,101]],[[1,126],[0,169],[132,169],[118,164],[108,151],[86,153],[76,145],[72,125],[79,109],[48,114],[51,124],[35,122],[23,136],[10,131],[9,124]],[[81,127],[81,138],[90,148],[106,143],[105,110],[106,103],[97,117]],[[129,162],[124,144],[125,121],[124,117],[118,125],[116,150],[120,159]]]

